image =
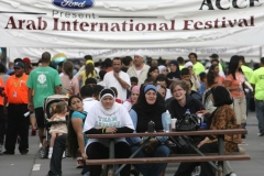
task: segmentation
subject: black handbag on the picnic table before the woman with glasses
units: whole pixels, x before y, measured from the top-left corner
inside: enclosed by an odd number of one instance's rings
[[[185,113],[183,119],[177,120],[176,131],[197,131],[200,128],[198,119],[199,117],[197,117],[195,113]]]

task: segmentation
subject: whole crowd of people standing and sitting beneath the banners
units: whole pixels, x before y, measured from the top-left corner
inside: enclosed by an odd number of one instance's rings
[[[0,153],[13,155],[19,138],[19,152],[29,152],[29,127],[32,135],[36,127],[41,150],[45,150],[45,117],[43,101],[52,95],[67,95],[68,102],[58,103],[51,120],[68,117],[67,127],[52,127],[48,158],[48,176],[62,175],[62,157],[67,146],[69,155],[86,160],[106,158],[109,143],[102,139],[87,139],[86,134],[141,133],[147,131],[150,121],[154,130],[165,129],[165,113],[180,120],[186,111],[202,113],[207,130],[246,128],[252,94],[255,99],[258,136],[264,135],[264,57],[260,68],[246,66],[243,56],[230,58],[228,70],[223,70],[219,56],[210,55],[204,66],[196,53],[167,61],[158,65],[153,61],[144,63],[144,55],[138,51],[134,57],[107,58],[103,64],[95,63],[92,56],[84,57],[84,66],[75,72],[70,61],[51,66],[51,54],[41,56],[37,67],[31,61],[16,58],[13,68],[6,70],[0,64]],[[226,73],[226,74],[224,74]],[[69,112],[67,112],[69,110]],[[30,111],[30,113],[28,113]],[[7,125],[6,125],[7,124]],[[36,125],[35,125],[36,124]],[[4,139],[6,136],[6,139]],[[244,135],[226,135],[226,152],[239,150],[245,144]],[[218,152],[217,138],[212,135],[194,138],[194,144],[204,153]],[[127,158],[144,143],[143,138],[121,138],[116,141],[116,157]],[[3,145],[6,151],[2,152]],[[134,157],[167,157],[170,148],[167,138],[152,139]],[[194,153],[193,150],[185,153]],[[144,176],[163,175],[166,163],[136,164],[135,173]],[[212,176],[215,170],[208,163],[183,163],[175,176],[189,176],[200,165],[202,176]],[[235,176],[229,162],[226,173]],[[85,176],[100,176],[101,166],[87,166]],[[120,176],[129,176],[127,165]]]

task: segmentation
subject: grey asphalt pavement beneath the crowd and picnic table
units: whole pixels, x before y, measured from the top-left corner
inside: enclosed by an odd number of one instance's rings
[[[264,136],[257,136],[257,120],[254,112],[248,117],[248,135],[244,139],[249,145],[243,145],[245,153],[251,155],[251,161],[231,162],[231,166],[238,176],[264,176]],[[37,136],[30,136],[30,152],[21,155],[15,151],[14,155],[0,155],[0,176],[46,176],[50,169],[50,160],[41,160]],[[166,176],[173,176],[178,164],[168,164]],[[80,176],[80,168],[76,168],[73,158],[63,160],[64,176]]]

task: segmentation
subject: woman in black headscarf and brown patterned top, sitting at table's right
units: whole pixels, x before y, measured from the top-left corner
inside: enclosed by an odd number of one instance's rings
[[[237,119],[234,110],[230,107],[233,103],[230,92],[222,86],[211,88],[212,102],[217,109],[210,114],[207,120],[209,130],[230,130],[237,129]],[[210,111],[201,110],[199,113],[208,114]],[[224,135],[224,152],[234,152],[238,150],[239,136],[237,134]],[[197,147],[202,153],[217,153],[219,151],[218,139],[216,135],[207,136],[202,140]],[[195,153],[195,152],[194,152]],[[201,165],[202,176],[213,176],[216,170],[211,169],[208,162],[201,163],[182,163],[175,176],[189,176],[197,164]],[[230,175],[234,175],[230,173]]]

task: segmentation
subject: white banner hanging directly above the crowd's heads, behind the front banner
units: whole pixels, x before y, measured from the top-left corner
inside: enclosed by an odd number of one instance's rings
[[[10,59],[13,61],[16,57],[30,57],[32,61],[37,62],[43,52],[48,51],[52,55],[57,53],[65,53],[67,58],[84,58],[85,55],[91,55],[94,61],[132,56],[138,51],[119,48],[119,50],[78,50],[78,48],[34,48],[34,47],[11,47]],[[209,59],[211,54],[218,54],[219,57],[226,62],[230,59],[232,55],[243,55],[245,61],[260,62],[260,47],[248,46],[248,47],[170,47],[170,48],[145,48],[141,50],[145,56],[152,57],[153,59],[176,59],[182,56],[184,59],[188,59],[188,54],[194,52],[197,53],[198,59]],[[264,53],[264,51],[263,51]]]

